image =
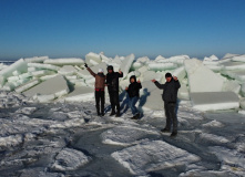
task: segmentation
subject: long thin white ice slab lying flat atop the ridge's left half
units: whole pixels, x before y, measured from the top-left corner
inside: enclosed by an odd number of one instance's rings
[[[53,65],[82,65],[84,61],[79,58],[69,58],[69,59],[49,59],[43,63],[53,64]]]

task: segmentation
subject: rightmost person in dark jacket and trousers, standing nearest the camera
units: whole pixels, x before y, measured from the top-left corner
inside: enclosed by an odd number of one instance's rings
[[[152,80],[153,83],[160,88],[163,90],[163,102],[166,116],[166,126],[161,129],[161,132],[170,132],[171,124],[173,123],[173,131],[171,136],[177,135],[177,117],[176,117],[176,102],[177,102],[177,91],[181,87],[181,84],[176,76],[172,76],[171,73],[165,74],[166,82],[165,84],[160,84],[157,81]]]

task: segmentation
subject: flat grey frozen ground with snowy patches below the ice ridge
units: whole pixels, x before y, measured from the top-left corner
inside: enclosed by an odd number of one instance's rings
[[[95,116],[94,102],[1,98],[1,177],[245,176],[245,115],[178,105],[178,135],[162,134],[163,112],[139,121]],[[6,104],[4,104],[6,103]]]

